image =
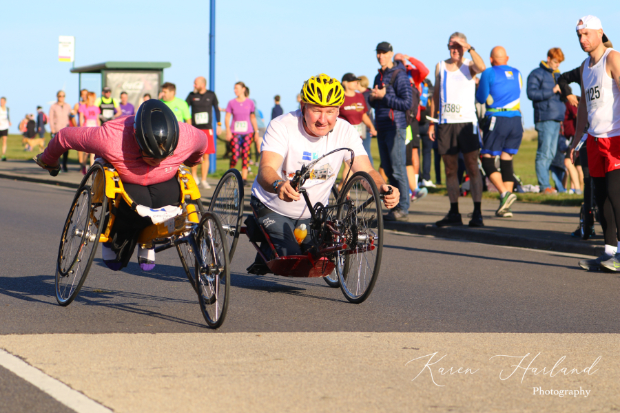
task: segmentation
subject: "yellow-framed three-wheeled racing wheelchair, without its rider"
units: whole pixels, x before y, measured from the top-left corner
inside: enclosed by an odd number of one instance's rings
[[[200,310],[211,328],[222,325],[230,289],[229,248],[218,215],[205,211],[192,173],[177,171],[180,206],[176,214],[147,226],[138,244],[155,252],[176,248],[181,265],[198,295]],[[121,202],[138,206],[123,189],[118,172],[104,160],[90,167],[77,189],[63,227],[56,262],[56,301],[68,306],[90,271],[97,246],[110,240],[115,211]]]

